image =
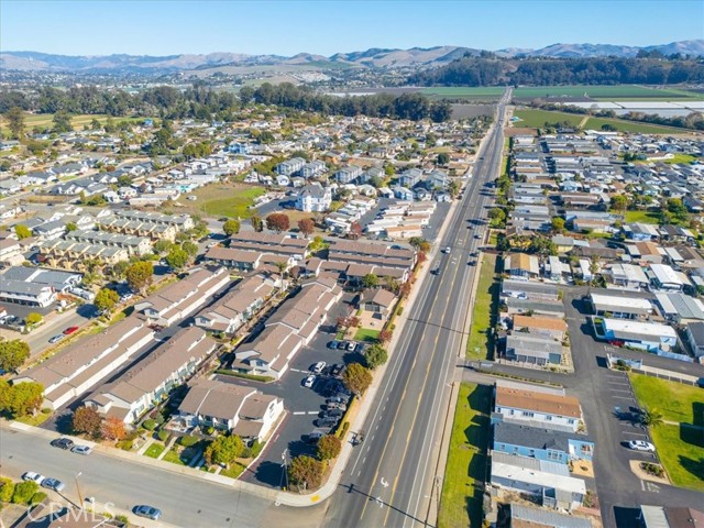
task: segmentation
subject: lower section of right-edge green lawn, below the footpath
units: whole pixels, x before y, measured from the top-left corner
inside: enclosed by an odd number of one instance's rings
[[[651,435],[672,484],[704,492],[704,430],[662,425]]]

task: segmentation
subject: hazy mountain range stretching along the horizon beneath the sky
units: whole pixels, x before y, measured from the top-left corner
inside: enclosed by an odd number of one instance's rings
[[[636,47],[613,44],[552,44],[539,50],[505,48],[494,53],[501,57],[517,55],[536,57],[632,57],[640,50],[659,51],[663,55],[704,56],[704,40],[672,42],[670,44]],[[167,56],[103,55],[68,56],[40,52],[0,52],[0,68],[34,72],[80,73],[157,73],[210,69],[221,66],[309,66],[315,69],[339,67],[402,68],[432,67],[448,64],[466,54],[479,55],[481,50],[462,46],[436,46],[410,50],[371,48],[364,52],[336,53],[330,57],[299,53],[286,57],[280,55],[246,55],[242,53],[209,53],[207,55],[180,54]]]

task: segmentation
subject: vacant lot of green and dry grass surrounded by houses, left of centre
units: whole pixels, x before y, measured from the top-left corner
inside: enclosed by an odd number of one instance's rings
[[[179,211],[205,217],[245,219],[254,215],[250,209],[254,198],[262,196],[264,188],[245,184],[215,184],[196,189],[178,199]],[[187,199],[195,196],[196,200]]]

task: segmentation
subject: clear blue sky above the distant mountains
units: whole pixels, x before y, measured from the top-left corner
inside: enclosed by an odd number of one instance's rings
[[[704,38],[702,0],[1,0],[0,51],[331,55]]]

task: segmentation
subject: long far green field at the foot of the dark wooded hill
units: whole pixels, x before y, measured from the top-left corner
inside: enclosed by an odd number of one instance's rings
[[[525,86],[514,89],[517,99],[536,99],[542,97],[590,97],[600,100],[703,100],[704,96],[694,91],[676,88],[649,88],[639,85],[579,85],[579,86]]]

